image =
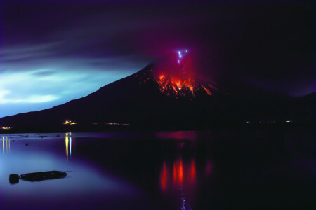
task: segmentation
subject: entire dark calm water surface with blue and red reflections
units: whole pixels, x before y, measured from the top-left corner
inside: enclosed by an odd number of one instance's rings
[[[315,203],[313,131],[57,135],[0,134],[0,209],[311,209]],[[70,172],[64,179],[8,181],[9,174],[49,170]]]

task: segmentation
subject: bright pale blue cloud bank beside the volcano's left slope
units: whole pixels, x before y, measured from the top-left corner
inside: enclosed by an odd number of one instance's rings
[[[60,43],[1,50],[0,117],[37,111],[84,97],[147,64],[136,56],[60,56]]]

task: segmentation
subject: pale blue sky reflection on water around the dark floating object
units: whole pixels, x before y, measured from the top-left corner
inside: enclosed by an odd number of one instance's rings
[[[75,204],[74,207],[86,209],[85,205],[90,203],[89,200],[93,200],[98,206],[111,197],[114,197],[114,200],[120,197],[139,200],[143,197],[143,193],[136,186],[111,173],[100,171],[89,160],[70,160],[72,135],[60,134],[60,138],[55,138],[55,135],[48,134],[48,137],[43,139],[37,134],[28,134],[28,138],[18,134],[13,134],[12,139],[10,136],[2,137],[0,209],[54,209],[54,204],[49,206],[52,202],[58,206],[65,204],[67,207],[78,200],[83,206]],[[62,151],[65,156],[59,149],[62,138]],[[35,182],[20,180],[14,185],[8,182],[9,174],[51,170],[66,171],[67,176],[64,179]]]

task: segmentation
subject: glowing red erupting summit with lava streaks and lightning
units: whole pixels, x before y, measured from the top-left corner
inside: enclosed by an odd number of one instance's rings
[[[164,62],[154,66],[154,69],[137,74],[140,84],[149,83],[153,79],[159,90],[170,97],[192,98],[197,95],[228,94],[220,90],[212,80],[195,73],[193,59],[188,50],[178,50]]]

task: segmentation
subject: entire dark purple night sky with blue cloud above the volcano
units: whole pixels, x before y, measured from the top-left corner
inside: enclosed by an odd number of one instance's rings
[[[0,117],[84,97],[183,49],[236,94],[316,92],[308,1],[1,2]]]

